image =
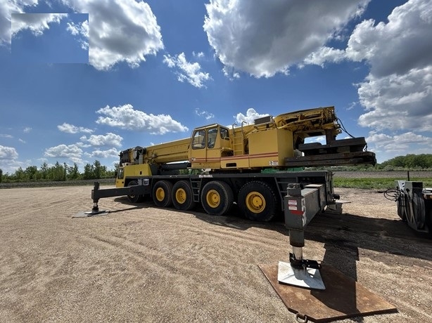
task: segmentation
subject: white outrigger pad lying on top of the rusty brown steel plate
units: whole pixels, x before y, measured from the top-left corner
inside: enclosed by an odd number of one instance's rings
[[[291,263],[279,261],[277,280],[283,284],[309,289],[326,289],[319,270],[315,268],[296,269]]]

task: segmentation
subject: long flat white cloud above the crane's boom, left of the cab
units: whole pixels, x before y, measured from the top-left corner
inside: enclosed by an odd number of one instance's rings
[[[140,110],[134,110],[132,105],[121,105],[119,107],[103,107],[96,111],[104,117],[98,117],[97,124],[105,124],[131,131],[148,131],[151,134],[168,132],[189,131],[179,121],[175,121],[168,114],[146,114]]]

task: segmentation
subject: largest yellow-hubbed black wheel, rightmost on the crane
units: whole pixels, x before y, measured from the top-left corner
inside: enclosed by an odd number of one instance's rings
[[[249,220],[268,222],[276,215],[277,195],[267,183],[253,181],[239,191],[239,207]]]

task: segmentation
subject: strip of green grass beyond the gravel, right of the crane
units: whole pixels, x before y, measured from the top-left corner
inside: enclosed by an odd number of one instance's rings
[[[387,190],[395,188],[395,180],[401,178],[333,178],[334,187]],[[432,187],[432,178],[410,178],[413,182],[423,182],[423,187]]]

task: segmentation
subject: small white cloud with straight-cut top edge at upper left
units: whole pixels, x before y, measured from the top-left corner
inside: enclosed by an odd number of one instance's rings
[[[35,36],[44,34],[51,23],[60,23],[67,13],[12,13],[12,37],[24,29],[30,29]]]

